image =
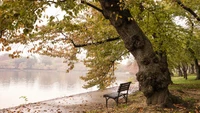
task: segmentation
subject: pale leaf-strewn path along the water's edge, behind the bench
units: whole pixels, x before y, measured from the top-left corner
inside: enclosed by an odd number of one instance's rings
[[[88,92],[84,92],[84,93],[80,93],[80,94],[57,97],[57,98],[53,98],[53,99],[48,99],[48,100],[42,100],[42,101],[33,102],[33,103],[22,104],[22,105],[19,105],[19,106],[3,108],[3,109],[0,109],[0,113],[8,113],[8,112],[15,112],[15,111],[26,112],[27,108],[28,108],[28,112],[30,112],[30,110],[34,110],[35,109],[36,105],[40,106],[40,108],[44,107],[43,110],[45,110],[45,108],[46,109],[50,109],[50,108],[55,109],[54,107],[62,106],[62,107],[64,107],[63,109],[68,109],[68,111],[70,111],[71,108],[78,109],[78,110],[83,109],[82,107],[80,107],[82,105],[84,105],[84,106],[93,106],[93,105],[97,105],[98,104],[101,107],[105,107],[105,99],[103,98],[103,94],[116,91],[117,88],[118,88],[118,86],[114,86],[114,87],[111,87],[111,88],[107,88],[105,90],[88,91]],[[137,83],[134,83],[134,84],[131,85],[131,87],[129,89],[129,93],[133,93],[135,91],[137,91]],[[77,101],[79,98],[85,98],[85,97],[87,97],[87,99],[80,100],[80,101],[85,101],[85,102],[78,103],[78,104],[77,103],[73,103],[73,102],[72,102],[72,104],[70,104],[70,103],[66,104],[65,102],[63,102],[63,103],[59,102],[59,101],[70,100],[70,99],[71,100],[75,99],[75,101]],[[88,99],[88,97],[89,98],[91,97],[91,98]],[[111,101],[110,103],[113,104],[114,101]],[[37,107],[37,108],[39,108],[39,107]],[[87,108],[87,107],[85,107],[85,108]],[[41,109],[37,109],[37,110],[41,111]],[[51,110],[51,111],[53,111],[53,110]]]

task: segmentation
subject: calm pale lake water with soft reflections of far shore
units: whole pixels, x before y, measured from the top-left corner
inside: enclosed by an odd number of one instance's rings
[[[0,109],[24,104],[21,96],[29,103],[96,90],[82,88],[84,81],[79,77],[85,74],[86,71],[0,70]],[[119,84],[131,75],[118,72],[116,76]]]

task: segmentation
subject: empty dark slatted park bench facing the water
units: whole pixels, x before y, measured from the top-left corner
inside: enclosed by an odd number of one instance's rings
[[[103,97],[106,99],[106,107],[108,107],[108,100],[114,99],[117,106],[118,106],[118,100],[120,97],[123,97],[126,101],[127,104],[127,100],[128,100],[128,90],[130,87],[131,82],[127,82],[127,83],[121,83],[120,86],[118,87],[117,92],[113,92],[113,93],[109,93],[109,94],[104,94]]]

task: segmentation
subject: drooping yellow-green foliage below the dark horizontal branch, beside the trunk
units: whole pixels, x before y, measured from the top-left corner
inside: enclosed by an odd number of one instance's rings
[[[88,50],[88,58],[84,62],[90,69],[86,76],[81,77],[87,81],[84,88],[97,86],[99,89],[104,89],[115,82],[114,71],[117,61],[127,54],[124,47],[119,45],[123,45],[122,41],[93,46]]]

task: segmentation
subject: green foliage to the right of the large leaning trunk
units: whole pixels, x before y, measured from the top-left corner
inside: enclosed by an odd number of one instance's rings
[[[186,5],[190,4],[186,1],[184,3]],[[189,5],[188,7],[191,6]],[[190,19],[192,19],[192,16],[188,15],[176,2],[130,0],[129,8],[142,30],[152,42],[154,50],[167,54],[169,68],[177,67],[177,65],[183,62],[188,64],[193,62],[188,47],[192,47],[195,51],[199,50],[197,47],[199,41],[192,36],[197,34],[197,32],[191,34]],[[177,25],[175,22],[177,17],[186,19],[186,23],[183,24],[187,26]],[[196,24],[194,29],[199,31],[197,27],[199,23],[195,21],[193,23]],[[188,42],[191,43],[188,45]],[[196,56],[198,55],[196,54]]]

